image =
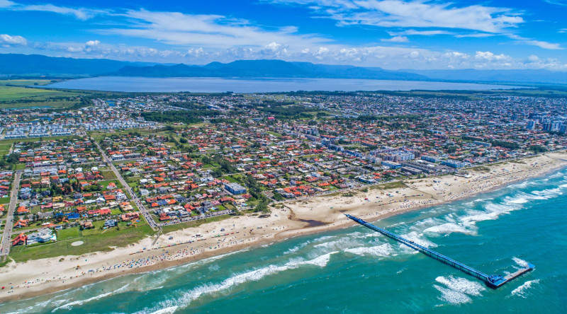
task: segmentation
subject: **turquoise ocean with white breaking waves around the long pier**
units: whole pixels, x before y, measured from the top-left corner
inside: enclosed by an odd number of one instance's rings
[[[0,313],[566,313],[567,170],[376,221],[487,274],[493,290],[367,228],[303,236],[0,305]]]

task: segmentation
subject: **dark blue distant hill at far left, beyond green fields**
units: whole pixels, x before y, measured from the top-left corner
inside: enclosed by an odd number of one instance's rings
[[[150,66],[155,63],[122,62],[109,59],[73,59],[40,54],[0,54],[0,74],[99,75],[124,66]]]

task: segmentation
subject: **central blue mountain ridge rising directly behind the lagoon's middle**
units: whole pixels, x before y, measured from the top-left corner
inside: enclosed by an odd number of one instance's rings
[[[412,80],[427,79],[420,74],[388,71],[384,69],[365,69],[358,66],[337,66],[313,64],[309,62],[285,62],[281,60],[238,60],[223,64],[212,62],[205,66],[125,66],[119,71],[109,73],[113,76],[150,77],[279,77],[279,78],[319,78],[319,79],[383,79]]]

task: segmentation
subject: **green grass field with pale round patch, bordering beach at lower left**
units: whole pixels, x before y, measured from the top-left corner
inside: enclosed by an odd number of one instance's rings
[[[26,248],[23,245],[14,247],[10,251],[10,257],[16,262],[25,262],[47,257],[109,251],[113,250],[112,247],[123,247],[154,233],[143,219],[137,224],[137,227],[126,226],[125,223],[120,222],[119,228],[101,229],[99,227],[104,224],[104,221],[94,221],[93,224],[95,228],[90,230],[79,231],[79,228],[74,227],[57,231],[57,238],[62,240],[57,240],[55,243],[31,248]],[[84,244],[72,246],[71,243],[75,241],[83,241]]]

